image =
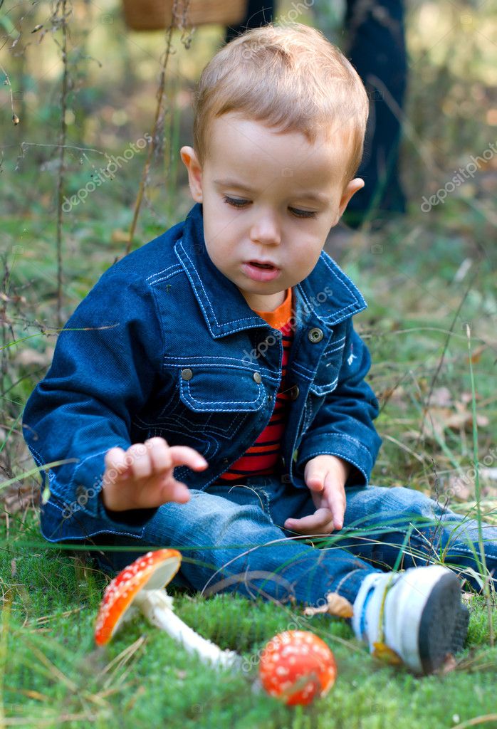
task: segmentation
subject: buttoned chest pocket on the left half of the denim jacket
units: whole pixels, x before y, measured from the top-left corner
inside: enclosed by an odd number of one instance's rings
[[[265,386],[257,370],[199,364],[176,373],[176,388],[161,419],[181,429],[232,437],[248,414],[264,405]]]

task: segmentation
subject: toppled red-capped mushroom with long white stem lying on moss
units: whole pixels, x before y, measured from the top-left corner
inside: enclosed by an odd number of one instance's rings
[[[160,549],[138,557],[117,574],[103,593],[95,623],[96,644],[106,644],[123,620],[130,617],[130,608],[134,612],[138,607],[153,625],[181,642],[188,652],[195,653],[203,663],[222,667],[238,663],[241,659],[237,653],[221,650],[195,633],[174,614],[173,598],[163,588],[178,572],[180,564],[181,554],[177,550]]]

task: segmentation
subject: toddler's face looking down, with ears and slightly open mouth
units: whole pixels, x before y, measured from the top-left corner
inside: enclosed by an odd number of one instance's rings
[[[364,185],[355,179],[344,189],[349,155],[340,134],[310,144],[300,132],[281,134],[234,112],[212,123],[202,168],[192,147],[181,149],[192,197],[203,203],[208,255],[251,308],[273,311],[313,270]]]

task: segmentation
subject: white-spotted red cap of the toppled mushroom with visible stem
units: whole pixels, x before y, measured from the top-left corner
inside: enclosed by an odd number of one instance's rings
[[[165,587],[178,572],[180,564],[178,550],[160,549],[141,555],[117,574],[103,593],[95,623],[95,643],[103,645],[111,639],[140,590]]]

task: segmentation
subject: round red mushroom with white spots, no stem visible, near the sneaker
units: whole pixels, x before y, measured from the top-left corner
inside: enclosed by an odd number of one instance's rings
[[[265,645],[259,677],[267,693],[288,706],[324,696],[337,677],[334,655],[309,631],[285,631]]]

